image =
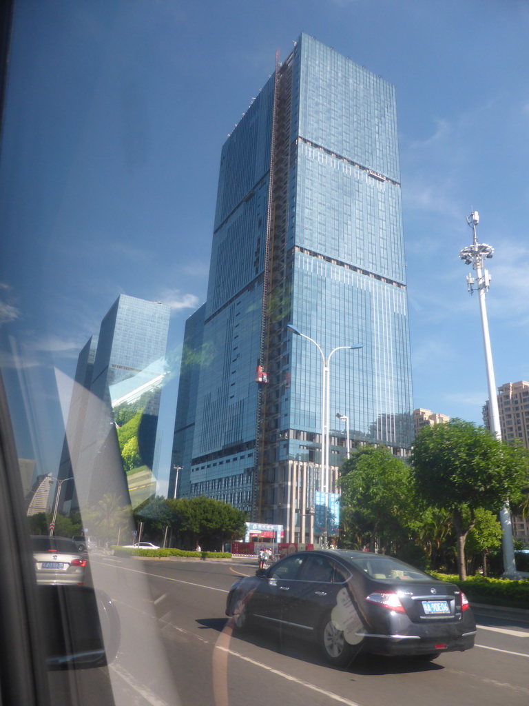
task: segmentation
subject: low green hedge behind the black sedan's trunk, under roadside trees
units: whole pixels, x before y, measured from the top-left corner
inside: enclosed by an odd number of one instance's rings
[[[461,581],[457,574],[428,572],[442,581],[455,583],[470,601],[487,603],[495,606],[529,609],[529,579],[513,581],[503,578],[469,576]]]

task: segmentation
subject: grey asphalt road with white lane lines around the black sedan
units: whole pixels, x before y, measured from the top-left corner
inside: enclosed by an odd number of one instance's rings
[[[340,671],[327,666],[315,646],[279,635],[231,634],[226,594],[237,573],[255,571],[255,562],[92,554],[91,563],[96,585],[116,602],[121,648],[108,668],[75,673],[79,704],[106,705],[110,689],[118,706],[529,702],[529,612],[477,606],[473,650],[427,664],[365,655]],[[50,678],[59,697],[66,688],[64,675]],[[71,683],[70,673],[68,688]]]

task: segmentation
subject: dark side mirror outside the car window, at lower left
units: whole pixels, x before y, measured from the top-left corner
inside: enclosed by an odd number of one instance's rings
[[[37,585],[48,669],[90,669],[116,658],[121,628],[109,596],[89,586]]]

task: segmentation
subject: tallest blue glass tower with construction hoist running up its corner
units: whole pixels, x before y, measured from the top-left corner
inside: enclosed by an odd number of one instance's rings
[[[184,343],[178,494],[308,542],[322,436],[335,491],[346,436],[403,454],[412,410],[394,87],[303,34],[221,151],[207,301]]]

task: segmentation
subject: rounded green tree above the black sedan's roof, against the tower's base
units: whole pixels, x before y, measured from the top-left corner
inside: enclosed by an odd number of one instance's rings
[[[360,540],[374,551],[378,541],[382,551],[396,551],[415,515],[410,467],[386,446],[367,446],[343,463],[341,473],[341,507],[353,544]]]

